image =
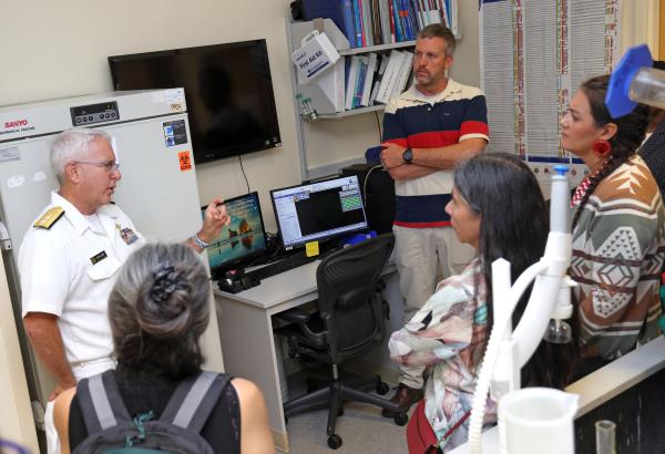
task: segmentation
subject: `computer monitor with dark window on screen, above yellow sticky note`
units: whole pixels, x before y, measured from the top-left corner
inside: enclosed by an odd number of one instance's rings
[[[270,190],[285,249],[367,228],[356,175]]]

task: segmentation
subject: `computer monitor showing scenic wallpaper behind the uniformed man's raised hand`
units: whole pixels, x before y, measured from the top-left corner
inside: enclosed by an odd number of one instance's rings
[[[265,254],[267,243],[257,193],[249,193],[224,202],[231,224],[206,249],[213,278],[228,269],[243,267]],[[201,207],[201,216],[205,216]]]

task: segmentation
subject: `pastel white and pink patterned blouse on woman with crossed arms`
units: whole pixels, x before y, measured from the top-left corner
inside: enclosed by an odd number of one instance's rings
[[[431,365],[424,390],[424,413],[441,440],[471,410],[487,332],[485,282],[480,260],[451,276],[413,318],[390,337],[392,361],[408,367]],[[488,401],[485,422],[495,421]],[[450,436],[443,451],[468,438],[469,420]]]

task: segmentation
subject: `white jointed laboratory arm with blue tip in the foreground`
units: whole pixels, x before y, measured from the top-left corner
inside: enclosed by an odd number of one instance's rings
[[[540,261],[529,267],[512,285],[510,262],[504,259],[492,264],[492,295],[494,324],[473,395],[473,407],[469,424],[471,453],[480,453],[480,435],[487,394],[492,385],[492,395],[499,403],[499,441],[501,452],[507,451],[507,421],[503,417],[501,398],[520,388],[520,369],[531,358],[543,333],[548,332],[557,342],[569,338],[570,327],[561,319],[572,314],[570,288],[572,280],[566,276],[571,262],[572,237],[570,227],[570,183],[567,167],[556,166],[552,176],[550,205],[550,234],[545,252]],[[529,302],[520,323],[510,330],[512,312],[522,293],[534,281]],[[554,320],[550,322],[550,319]],[[570,412],[569,412],[570,413]],[[571,414],[570,421],[574,412]],[[561,426],[563,427],[563,425]],[[563,434],[560,434],[563,436]],[[560,453],[563,453],[560,451]]]

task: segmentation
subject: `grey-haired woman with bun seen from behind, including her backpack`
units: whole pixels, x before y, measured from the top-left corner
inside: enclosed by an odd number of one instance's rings
[[[275,452],[258,388],[201,370],[209,291],[187,246],[151,244],[127,259],[109,298],[117,367],[58,398],[63,453]]]

